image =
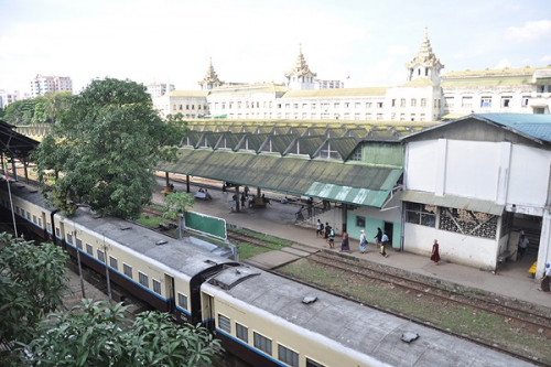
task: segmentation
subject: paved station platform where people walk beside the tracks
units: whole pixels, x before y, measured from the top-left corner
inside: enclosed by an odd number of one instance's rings
[[[158,179],[158,187],[153,194],[153,203],[155,204],[162,205],[164,203],[164,194],[161,193],[164,188],[164,179]],[[174,184],[175,190],[179,192],[184,192],[186,188],[182,182],[171,180],[171,183]],[[198,188],[197,185],[192,183],[190,191],[191,193],[195,193]],[[233,188],[227,193],[222,192],[222,185],[220,187],[207,186],[207,188],[212,199],[196,199],[192,208],[193,212],[224,218],[228,225],[288,239],[295,244],[281,251],[259,255],[248,259],[247,262],[270,269],[299,257],[307,256],[316,250],[329,249],[323,238],[316,238],[313,225],[312,227],[305,227],[295,224],[295,213],[300,208],[300,205],[281,204],[279,202],[279,198],[283,196],[281,194],[263,191],[267,197],[271,198],[271,203],[266,208],[245,208],[240,212],[234,212],[229,205],[231,196],[235,193]],[[372,240],[375,236],[375,234],[366,235],[368,240]],[[339,249],[341,238],[337,236],[335,237],[334,251],[338,252]],[[528,272],[531,263],[536,260],[536,256],[530,257],[527,255],[520,261],[506,262],[499,267],[496,273],[493,273],[449,262],[445,258],[439,265],[434,265],[429,259],[429,256],[424,257],[393,249],[387,249],[388,257],[382,257],[371,241],[367,247],[367,253],[360,253],[358,241],[350,239],[350,250],[352,252],[346,252],[347,256],[356,257],[364,261],[371,261],[435,278],[441,281],[480,289],[486,292],[494,292],[551,307],[551,293],[538,291],[539,281],[534,280]]]

